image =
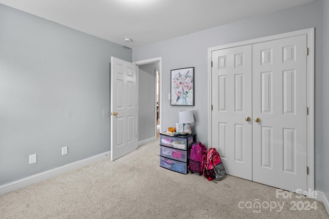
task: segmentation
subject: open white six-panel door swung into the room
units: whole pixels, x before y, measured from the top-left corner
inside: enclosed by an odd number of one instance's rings
[[[137,148],[137,68],[111,57],[111,161]]]

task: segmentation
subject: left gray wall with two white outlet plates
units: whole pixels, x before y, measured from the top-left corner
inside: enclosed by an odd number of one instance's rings
[[[0,185],[110,150],[111,56],[132,50],[0,4]]]

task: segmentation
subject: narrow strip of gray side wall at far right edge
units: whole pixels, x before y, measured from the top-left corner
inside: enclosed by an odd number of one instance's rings
[[[329,198],[329,1],[325,0],[323,7],[323,191]]]

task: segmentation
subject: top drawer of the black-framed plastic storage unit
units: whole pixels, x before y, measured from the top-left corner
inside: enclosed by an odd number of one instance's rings
[[[160,133],[160,145],[187,150],[194,142],[194,134],[187,137],[171,137]]]

